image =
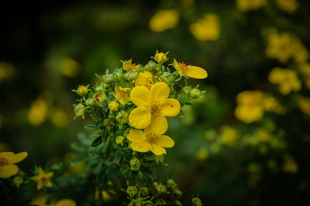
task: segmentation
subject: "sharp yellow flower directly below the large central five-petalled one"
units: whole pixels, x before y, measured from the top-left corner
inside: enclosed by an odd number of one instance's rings
[[[173,147],[174,141],[162,134],[155,133],[151,127],[146,127],[144,132],[132,129],[129,131],[127,139],[131,141],[133,151],[146,153],[151,151],[155,155],[167,154],[164,147]]]

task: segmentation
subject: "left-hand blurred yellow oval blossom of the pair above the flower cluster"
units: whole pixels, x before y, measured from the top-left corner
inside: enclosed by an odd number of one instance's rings
[[[159,10],[149,21],[153,32],[163,32],[176,27],[179,23],[180,14],[175,9]]]

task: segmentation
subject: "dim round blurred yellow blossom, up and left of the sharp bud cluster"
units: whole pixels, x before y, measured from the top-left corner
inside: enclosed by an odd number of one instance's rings
[[[70,57],[64,57],[59,61],[59,71],[67,77],[77,77],[81,72],[81,67],[77,61]]]

